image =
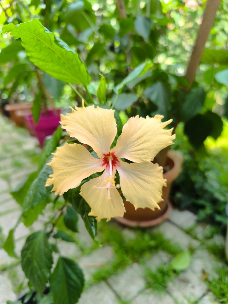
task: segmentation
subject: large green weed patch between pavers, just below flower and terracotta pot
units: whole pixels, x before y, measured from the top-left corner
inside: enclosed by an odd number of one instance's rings
[[[130,264],[135,262],[142,263],[143,258],[146,258],[147,255],[151,257],[151,254],[158,250],[165,251],[170,255],[181,252],[181,248],[178,245],[172,244],[170,240],[165,239],[159,232],[153,233],[138,228],[135,230],[135,238],[126,240],[120,230],[106,223],[101,222],[99,230],[102,231],[100,243],[112,246],[115,252],[115,259],[96,271],[92,275],[92,281],[88,282],[87,286],[109,278]]]

